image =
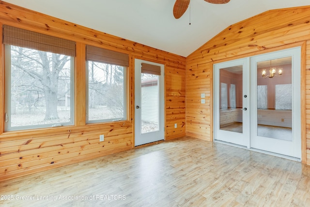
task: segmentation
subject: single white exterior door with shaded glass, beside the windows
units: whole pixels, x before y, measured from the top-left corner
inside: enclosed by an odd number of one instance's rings
[[[135,59],[135,146],[164,140],[164,71]]]

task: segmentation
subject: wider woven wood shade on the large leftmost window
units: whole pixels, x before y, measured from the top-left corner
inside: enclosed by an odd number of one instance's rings
[[[74,57],[76,43],[47,34],[3,25],[3,44],[31,48]]]

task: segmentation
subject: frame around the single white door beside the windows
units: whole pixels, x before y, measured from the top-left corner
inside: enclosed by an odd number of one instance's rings
[[[134,78],[133,78],[133,146],[134,147],[137,147],[137,146],[140,146],[140,145],[143,145],[143,144],[147,144],[147,143],[140,143],[139,141],[136,142],[136,138],[137,138],[137,134],[138,135],[141,135],[140,133],[137,133],[137,127],[138,127],[138,124],[136,123],[137,121],[137,116],[136,116],[136,98],[137,98],[137,94],[136,94],[136,81],[138,80],[139,83],[140,83],[140,77],[137,77],[136,74],[137,74],[137,68],[139,68],[138,70],[140,70],[140,65],[141,63],[147,63],[147,64],[154,64],[154,65],[158,65],[161,67],[161,76],[159,78],[159,97],[161,99],[159,99],[159,131],[160,133],[162,133],[160,135],[160,138],[158,140],[154,140],[152,142],[156,142],[156,141],[160,141],[160,140],[166,140],[166,136],[165,136],[165,121],[166,121],[166,108],[165,108],[165,97],[166,97],[166,90],[165,90],[165,87],[166,87],[166,84],[165,84],[165,67],[166,65],[163,64],[163,63],[158,63],[158,62],[153,62],[153,60],[145,60],[145,59],[141,59],[140,57],[133,57],[133,67],[134,67],[134,71],[133,71],[133,75],[134,75]],[[141,95],[141,90],[139,89],[139,95],[138,97],[140,97]],[[153,133],[153,132],[149,132],[149,133]],[[146,134],[149,134],[149,133],[146,133]],[[149,143],[152,143],[152,142],[149,142]]]

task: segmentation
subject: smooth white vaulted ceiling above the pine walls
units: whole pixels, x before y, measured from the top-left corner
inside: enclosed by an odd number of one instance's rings
[[[228,26],[262,12],[309,0],[191,0],[175,19],[175,0],[4,0],[94,30],[187,57]],[[190,23],[190,24],[189,24]]]

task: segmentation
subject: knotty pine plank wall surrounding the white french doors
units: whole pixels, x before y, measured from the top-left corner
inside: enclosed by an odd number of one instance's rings
[[[302,162],[310,164],[309,6],[267,11],[233,24],[186,57],[186,135],[213,140],[214,63],[297,46],[303,57]],[[200,104],[201,93],[207,95],[206,104]]]

